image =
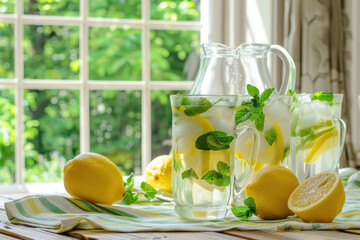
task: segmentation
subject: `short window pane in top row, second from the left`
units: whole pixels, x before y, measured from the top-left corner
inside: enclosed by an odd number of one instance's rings
[[[33,15],[79,16],[80,0],[24,0],[24,13]]]

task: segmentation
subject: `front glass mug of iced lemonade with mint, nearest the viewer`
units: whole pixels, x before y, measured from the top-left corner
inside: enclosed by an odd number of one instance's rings
[[[237,96],[172,95],[172,191],[178,215],[231,210]]]

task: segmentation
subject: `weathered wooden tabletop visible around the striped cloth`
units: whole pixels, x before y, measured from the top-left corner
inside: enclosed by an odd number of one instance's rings
[[[116,233],[103,230],[75,230],[66,234],[56,234],[49,229],[26,227],[8,221],[4,202],[24,197],[28,193],[0,194],[0,239],[156,239],[156,240],[231,240],[231,239],[356,239],[360,240],[359,230],[346,231],[225,231],[225,232],[141,232]]]

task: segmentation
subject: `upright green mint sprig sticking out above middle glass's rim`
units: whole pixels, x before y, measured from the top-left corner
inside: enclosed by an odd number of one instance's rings
[[[250,101],[246,101],[241,104],[243,107],[235,113],[235,123],[239,124],[245,122],[246,120],[250,120],[255,123],[256,129],[262,131],[265,124],[265,114],[263,112],[263,108],[266,100],[269,99],[275,89],[265,89],[260,95],[259,89],[255,86],[248,84],[246,88],[253,98]]]

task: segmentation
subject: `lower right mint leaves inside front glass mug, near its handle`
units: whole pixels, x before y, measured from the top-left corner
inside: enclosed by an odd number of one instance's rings
[[[216,165],[218,171],[209,170],[202,177],[209,184],[214,184],[219,187],[226,187],[230,184],[230,166],[222,161],[219,161]]]

